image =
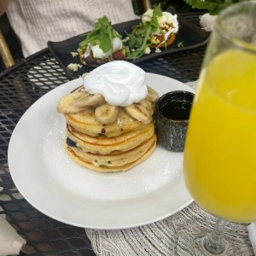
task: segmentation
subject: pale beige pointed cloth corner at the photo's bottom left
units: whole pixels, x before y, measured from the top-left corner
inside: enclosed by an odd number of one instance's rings
[[[0,187],[0,192],[3,188]],[[16,230],[0,215],[0,256],[17,255],[26,241],[18,235]]]

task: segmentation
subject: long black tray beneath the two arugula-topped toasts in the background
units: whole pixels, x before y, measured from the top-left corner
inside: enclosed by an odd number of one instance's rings
[[[167,9],[166,12],[172,12],[173,9]],[[174,42],[172,44],[166,46],[166,48],[160,48],[160,52],[156,52],[155,50],[151,50],[149,54],[144,54],[139,58],[132,60],[127,59],[125,61],[130,61],[133,64],[137,64],[141,61],[147,61],[151,58],[160,57],[166,54],[172,54],[177,51],[183,51],[186,49],[193,49],[199,47],[201,45],[207,44],[209,38],[209,32],[206,32],[201,29],[201,27],[196,26],[194,23],[186,20],[183,15],[177,14],[177,21],[179,24],[179,30],[176,34]],[[141,19],[131,20],[124,23],[119,23],[113,25],[113,29],[125,38],[127,33],[131,32],[131,28],[139,25]],[[79,48],[79,43],[81,43],[86,35],[90,32],[83,33],[73,38],[68,38],[61,42],[48,42],[48,48],[51,54],[55,57],[55,59],[60,63],[61,67],[64,69],[67,74],[68,79],[75,79],[81,76],[83,73],[90,72],[94,67],[90,67],[88,65],[82,65],[79,55],[73,55],[73,52],[76,52]],[[67,66],[71,63],[74,66],[78,66],[77,71],[73,71]]]

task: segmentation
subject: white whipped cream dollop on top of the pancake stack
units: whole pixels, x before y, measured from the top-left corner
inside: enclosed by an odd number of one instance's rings
[[[84,77],[84,89],[101,94],[113,106],[125,107],[141,102],[148,94],[146,73],[127,61],[110,61]]]

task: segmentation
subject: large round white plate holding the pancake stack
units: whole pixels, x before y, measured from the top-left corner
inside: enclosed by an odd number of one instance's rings
[[[157,146],[128,172],[101,173],[77,165],[63,148],[61,96],[82,84],[75,79],[49,91],[21,117],[9,143],[9,169],[17,189],[40,212],[91,229],[123,229],[166,218],[192,199],[183,183],[183,153]],[[160,95],[189,86],[147,73]]]

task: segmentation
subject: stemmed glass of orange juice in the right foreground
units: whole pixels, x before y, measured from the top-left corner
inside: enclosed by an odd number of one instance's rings
[[[190,114],[183,172],[195,202],[219,218],[205,249],[227,252],[228,242],[218,236],[224,220],[256,221],[256,1],[233,4],[214,23]]]

